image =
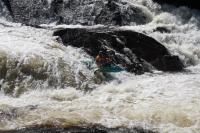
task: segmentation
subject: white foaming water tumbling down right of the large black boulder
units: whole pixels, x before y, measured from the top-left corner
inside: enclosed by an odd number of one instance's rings
[[[167,5],[163,10],[159,6],[156,9],[151,23],[124,26],[122,29],[135,30],[152,36],[165,45],[172,54],[179,55],[186,66],[199,64],[200,12],[186,7],[174,8]],[[166,28],[171,33],[155,32],[157,27]]]

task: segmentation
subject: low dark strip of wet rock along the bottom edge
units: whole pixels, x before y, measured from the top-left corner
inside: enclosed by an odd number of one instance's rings
[[[4,131],[4,133],[156,133],[140,127],[134,128],[106,128],[101,125],[73,126],[68,128],[32,127],[21,130]]]

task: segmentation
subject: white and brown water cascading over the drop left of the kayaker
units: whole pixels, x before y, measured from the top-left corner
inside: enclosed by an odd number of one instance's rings
[[[4,27],[0,33],[0,74],[5,94],[18,97],[31,89],[80,88],[85,81],[94,82],[94,74],[82,63],[91,57],[81,49],[63,46],[52,33],[21,25]]]

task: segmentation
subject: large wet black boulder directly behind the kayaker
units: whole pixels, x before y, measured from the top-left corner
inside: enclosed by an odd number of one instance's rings
[[[183,65],[177,56],[155,39],[142,33],[109,27],[67,28],[54,32],[65,45],[82,47],[94,58],[101,47],[113,49],[114,60],[127,71],[142,74],[153,65],[158,70],[180,71]],[[151,64],[151,65],[149,65]]]

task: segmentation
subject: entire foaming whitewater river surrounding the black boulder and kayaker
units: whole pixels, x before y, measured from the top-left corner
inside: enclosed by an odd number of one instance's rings
[[[121,28],[160,41],[181,58],[184,72],[154,71],[137,76],[122,72],[112,74],[112,81],[95,84],[93,72],[82,63],[93,59],[82,49],[66,47],[53,37],[56,27],[37,29],[1,18],[0,59],[6,63],[1,62],[0,70],[6,64],[9,72],[16,69],[19,76],[11,91],[7,91],[7,86],[13,84],[9,78],[0,81],[0,130],[95,123],[106,127],[139,126],[162,133],[200,132],[200,12],[161,7],[150,0],[129,0],[133,1],[151,12],[153,20]],[[156,27],[171,32],[155,32]],[[22,71],[24,67],[33,75],[45,76],[37,79]],[[77,87],[86,83],[92,91]]]

